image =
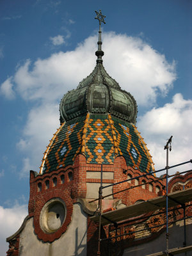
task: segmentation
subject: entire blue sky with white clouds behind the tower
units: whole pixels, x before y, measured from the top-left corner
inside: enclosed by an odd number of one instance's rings
[[[95,66],[98,21],[104,67],[138,103],[138,129],[156,168],[191,158],[191,20],[188,0],[0,2],[0,245],[27,214],[29,170],[38,172],[59,126],[58,104]],[[0,252],[3,253],[4,252]]]

